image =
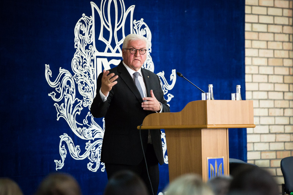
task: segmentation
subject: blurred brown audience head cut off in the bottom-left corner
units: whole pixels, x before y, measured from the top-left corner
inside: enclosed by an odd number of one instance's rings
[[[23,193],[12,179],[0,178],[0,195],[23,195]]]

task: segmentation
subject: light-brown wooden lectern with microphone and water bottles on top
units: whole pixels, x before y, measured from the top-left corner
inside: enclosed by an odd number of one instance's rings
[[[208,158],[221,157],[229,175],[228,128],[254,127],[253,101],[199,100],[178,113],[150,114],[141,129],[165,129],[171,182],[185,173],[207,181]]]

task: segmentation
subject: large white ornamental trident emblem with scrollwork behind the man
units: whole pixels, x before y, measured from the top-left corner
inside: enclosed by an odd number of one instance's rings
[[[111,6],[114,6],[114,9]],[[99,168],[101,171],[105,171],[104,163],[100,162],[105,121],[104,118],[93,118],[90,114],[90,105],[96,95],[97,75],[103,69],[110,69],[111,64],[117,66],[121,61],[118,57],[122,56],[121,44],[125,38],[124,30],[127,26],[129,25],[130,33],[143,35],[151,42],[151,31],[143,19],[133,20],[134,7],[132,5],[125,10],[122,0],[102,0],[100,7],[91,2],[92,16],[82,14],[75,25],[76,52],[71,62],[73,74],[60,67],[59,75],[52,81],[49,64],[45,64],[46,80],[51,87],[55,88],[55,91],[48,95],[56,102],[54,106],[57,111],[57,120],[65,119],[77,137],[88,140],[84,149],[81,149],[80,146],[75,146],[68,134],[61,135],[59,144],[61,160],[54,160],[56,170],[62,169],[64,166],[67,146],[69,154],[75,160],[88,159],[87,168],[90,171],[96,172]],[[111,17],[113,15],[115,15],[114,18]],[[130,21],[126,21],[127,17],[130,18]],[[99,35],[96,35],[96,32],[99,32]],[[151,45],[143,68],[154,72],[154,63],[150,53]],[[108,59],[111,60],[108,61]],[[167,102],[174,97],[168,91],[175,85],[175,72],[176,70],[173,69],[170,75],[171,84],[168,84],[164,71],[157,73]],[[102,125],[100,126],[99,123]],[[162,134],[162,144],[164,161],[167,164],[165,134]]]

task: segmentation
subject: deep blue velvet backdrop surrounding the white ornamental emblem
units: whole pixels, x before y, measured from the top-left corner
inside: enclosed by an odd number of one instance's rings
[[[99,5],[100,0],[94,3]],[[56,172],[60,135],[68,134],[81,150],[88,141],[79,139],[63,118],[56,120],[55,101],[48,96],[54,89],[44,73],[45,64],[50,64],[51,80],[60,67],[72,73],[74,28],[83,13],[92,15],[91,5],[76,0],[0,4],[0,177],[11,177],[25,194],[32,194],[44,176]],[[230,99],[238,84],[245,91],[244,0],[124,0],[124,4],[135,5],[133,19],[143,18],[152,33],[154,73],[164,71],[170,82],[175,69],[204,91],[213,84],[215,99]],[[171,112],[201,99],[201,92],[180,77],[168,93],[174,96],[169,101]],[[246,161],[246,129],[230,130],[229,144],[230,158]],[[87,158],[74,160],[68,154],[58,172],[72,174],[84,194],[102,194],[106,173],[90,171],[87,164]],[[159,191],[168,179],[164,164]]]

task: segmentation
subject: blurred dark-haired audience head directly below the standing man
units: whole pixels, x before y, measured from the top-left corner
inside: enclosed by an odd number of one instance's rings
[[[115,173],[106,185],[104,195],[148,195],[142,179],[135,173],[124,170]]]

